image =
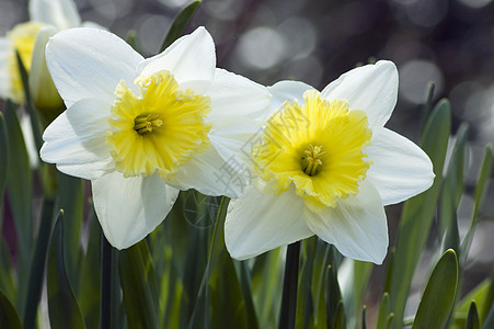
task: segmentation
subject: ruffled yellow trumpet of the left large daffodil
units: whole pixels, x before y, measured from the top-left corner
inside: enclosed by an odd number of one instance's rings
[[[210,99],[179,90],[169,71],[138,77],[140,94],[135,94],[120,81],[108,120],[106,144],[115,168],[125,177],[152,175],[166,181],[194,154],[209,147]]]

